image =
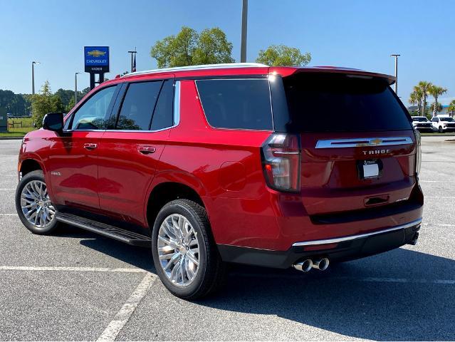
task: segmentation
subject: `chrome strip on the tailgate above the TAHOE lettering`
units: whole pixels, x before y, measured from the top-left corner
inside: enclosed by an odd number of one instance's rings
[[[368,147],[368,146],[392,146],[410,145],[411,137],[387,137],[387,138],[346,138],[324,139],[316,142],[315,148],[341,148],[341,147]]]

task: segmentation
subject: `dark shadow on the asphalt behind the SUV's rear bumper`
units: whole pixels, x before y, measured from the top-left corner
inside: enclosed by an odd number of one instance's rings
[[[234,266],[224,289],[199,304],[355,338],[452,341],[454,279],[455,261],[396,249],[308,274]]]

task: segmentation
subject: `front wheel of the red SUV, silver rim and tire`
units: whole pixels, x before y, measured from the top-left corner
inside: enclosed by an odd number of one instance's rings
[[[57,229],[56,209],[41,170],[22,177],[16,190],[16,211],[23,225],[34,234],[50,234]]]

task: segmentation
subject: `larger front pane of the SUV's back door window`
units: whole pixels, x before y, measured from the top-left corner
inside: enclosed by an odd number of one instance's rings
[[[162,81],[131,83],[117,120],[117,130],[149,130]]]

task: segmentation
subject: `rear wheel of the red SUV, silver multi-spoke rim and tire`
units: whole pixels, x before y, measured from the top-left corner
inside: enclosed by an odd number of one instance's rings
[[[188,199],[167,203],[152,230],[155,269],[164,286],[183,299],[206,296],[222,284],[225,266],[204,207]]]

